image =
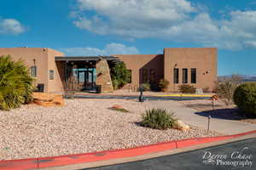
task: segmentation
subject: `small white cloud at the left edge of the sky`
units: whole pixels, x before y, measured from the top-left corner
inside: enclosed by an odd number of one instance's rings
[[[15,19],[0,19],[0,34],[14,34],[18,35],[25,31],[24,26],[20,21]]]

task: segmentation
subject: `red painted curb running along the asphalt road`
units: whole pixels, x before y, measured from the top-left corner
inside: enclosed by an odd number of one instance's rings
[[[207,144],[219,140],[233,139],[252,133],[256,133],[256,130],[247,133],[239,133],[235,135],[227,135],[220,137],[183,139],[178,141],[163,142],[160,144],[149,144],[124,150],[106,150],[87,154],[0,161],[0,170],[31,170],[43,167],[58,167],[79,163],[88,163],[93,161],[106,161],[131,156],[142,156],[145,154],[160,152],[164,150],[174,150],[177,148],[189,147],[196,144]]]

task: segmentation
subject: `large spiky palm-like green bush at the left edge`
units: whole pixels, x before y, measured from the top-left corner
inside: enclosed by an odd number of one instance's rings
[[[0,110],[9,111],[32,102],[33,79],[26,65],[0,57]]]

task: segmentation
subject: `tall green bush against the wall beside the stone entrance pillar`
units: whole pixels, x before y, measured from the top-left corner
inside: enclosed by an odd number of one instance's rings
[[[125,63],[113,65],[110,69],[110,75],[113,83],[113,89],[122,88],[131,81],[131,71],[126,69]]]

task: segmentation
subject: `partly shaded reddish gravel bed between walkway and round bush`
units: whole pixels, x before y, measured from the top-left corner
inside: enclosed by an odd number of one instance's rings
[[[256,116],[249,116],[240,111],[236,105],[225,105],[223,101],[214,101],[214,111],[212,111],[212,100],[210,99],[195,99],[178,101],[184,106],[198,111],[196,114],[220,119],[235,120],[241,122],[249,122],[256,124]]]

